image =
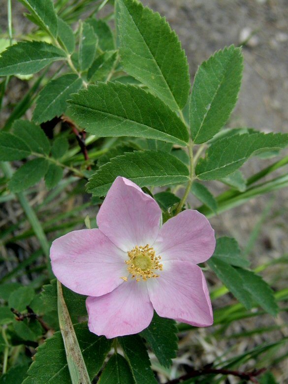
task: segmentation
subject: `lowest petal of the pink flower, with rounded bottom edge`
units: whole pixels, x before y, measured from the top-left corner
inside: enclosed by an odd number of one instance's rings
[[[141,332],[153,318],[146,284],[131,279],[106,295],[88,297],[86,307],[90,331],[108,339]]]

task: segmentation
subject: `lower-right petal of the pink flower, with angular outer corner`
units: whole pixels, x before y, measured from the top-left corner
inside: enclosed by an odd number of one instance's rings
[[[208,288],[197,265],[166,261],[160,277],[149,281],[147,288],[159,316],[200,327],[213,323]]]

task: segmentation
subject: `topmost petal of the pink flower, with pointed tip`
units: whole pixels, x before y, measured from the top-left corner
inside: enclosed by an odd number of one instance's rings
[[[161,210],[157,202],[124,177],[117,177],[97,215],[99,229],[123,251],[152,245]]]

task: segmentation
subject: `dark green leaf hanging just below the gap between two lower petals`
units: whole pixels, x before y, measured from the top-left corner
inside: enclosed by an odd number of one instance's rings
[[[176,357],[178,350],[177,331],[174,320],[160,318],[154,312],[149,327],[141,332],[141,336],[150,345],[160,364],[167,368],[172,365],[171,359]]]

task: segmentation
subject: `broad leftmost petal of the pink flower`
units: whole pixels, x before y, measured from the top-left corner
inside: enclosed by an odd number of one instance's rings
[[[127,254],[99,229],[73,231],[54,240],[50,257],[57,279],[84,295],[111,292],[128,276]]]

